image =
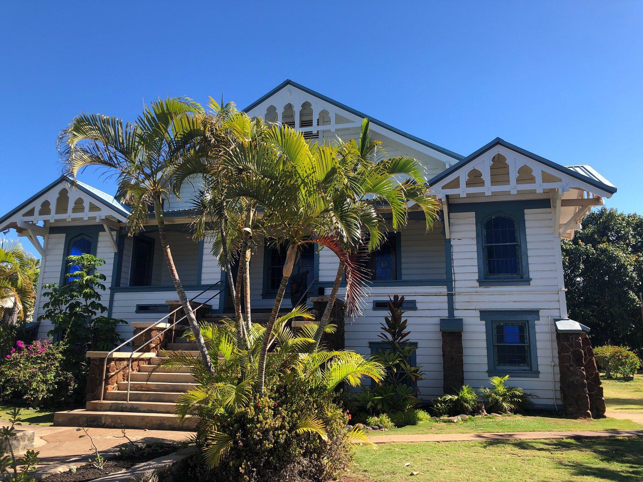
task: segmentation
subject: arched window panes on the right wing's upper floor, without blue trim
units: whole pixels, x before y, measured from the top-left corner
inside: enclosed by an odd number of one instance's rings
[[[520,237],[515,219],[494,214],[482,222],[485,275],[520,276]]]

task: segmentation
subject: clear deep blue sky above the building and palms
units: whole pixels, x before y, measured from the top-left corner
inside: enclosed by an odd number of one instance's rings
[[[619,188],[609,206],[643,212],[643,2],[226,4],[3,2],[0,215],[60,174],[80,111],[245,107],[285,78],[459,154],[499,136],[588,163]]]

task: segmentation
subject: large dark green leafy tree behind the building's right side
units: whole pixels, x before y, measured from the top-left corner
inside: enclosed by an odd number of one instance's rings
[[[643,350],[638,293],[643,280],[643,217],[601,208],[588,214],[574,240],[563,240],[569,316],[592,328],[594,346]]]

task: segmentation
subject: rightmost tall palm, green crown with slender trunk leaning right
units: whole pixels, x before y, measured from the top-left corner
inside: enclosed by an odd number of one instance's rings
[[[406,224],[409,202],[415,202],[424,212],[427,229],[431,228],[437,217],[437,201],[429,195],[422,165],[411,157],[386,158],[385,155],[381,143],[370,139],[368,119],[362,121],[358,141],[338,141],[337,173],[327,179],[329,184],[323,191],[331,197],[334,206],[343,206],[343,211],[357,218],[361,235],[354,237],[359,240],[358,244],[345,239],[343,249],[336,249],[340,262],[329,301],[315,334],[317,345],[331,316],[341,279],[347,269],[346,260],[349,256],[343,251],[374,251],[384,240],[384,220],[377,213],[376,204],[384,202],[390,207],[395,231]],[[365,240],[367,246],[363,245]],[[359,257],[359,254],[356,256]]]

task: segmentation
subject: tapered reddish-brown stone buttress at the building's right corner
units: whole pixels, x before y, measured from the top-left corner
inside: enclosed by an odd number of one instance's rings
[[[601,379],[587,334],[557,332],[556,341],[565,415],[574,418],[604,416]]]

